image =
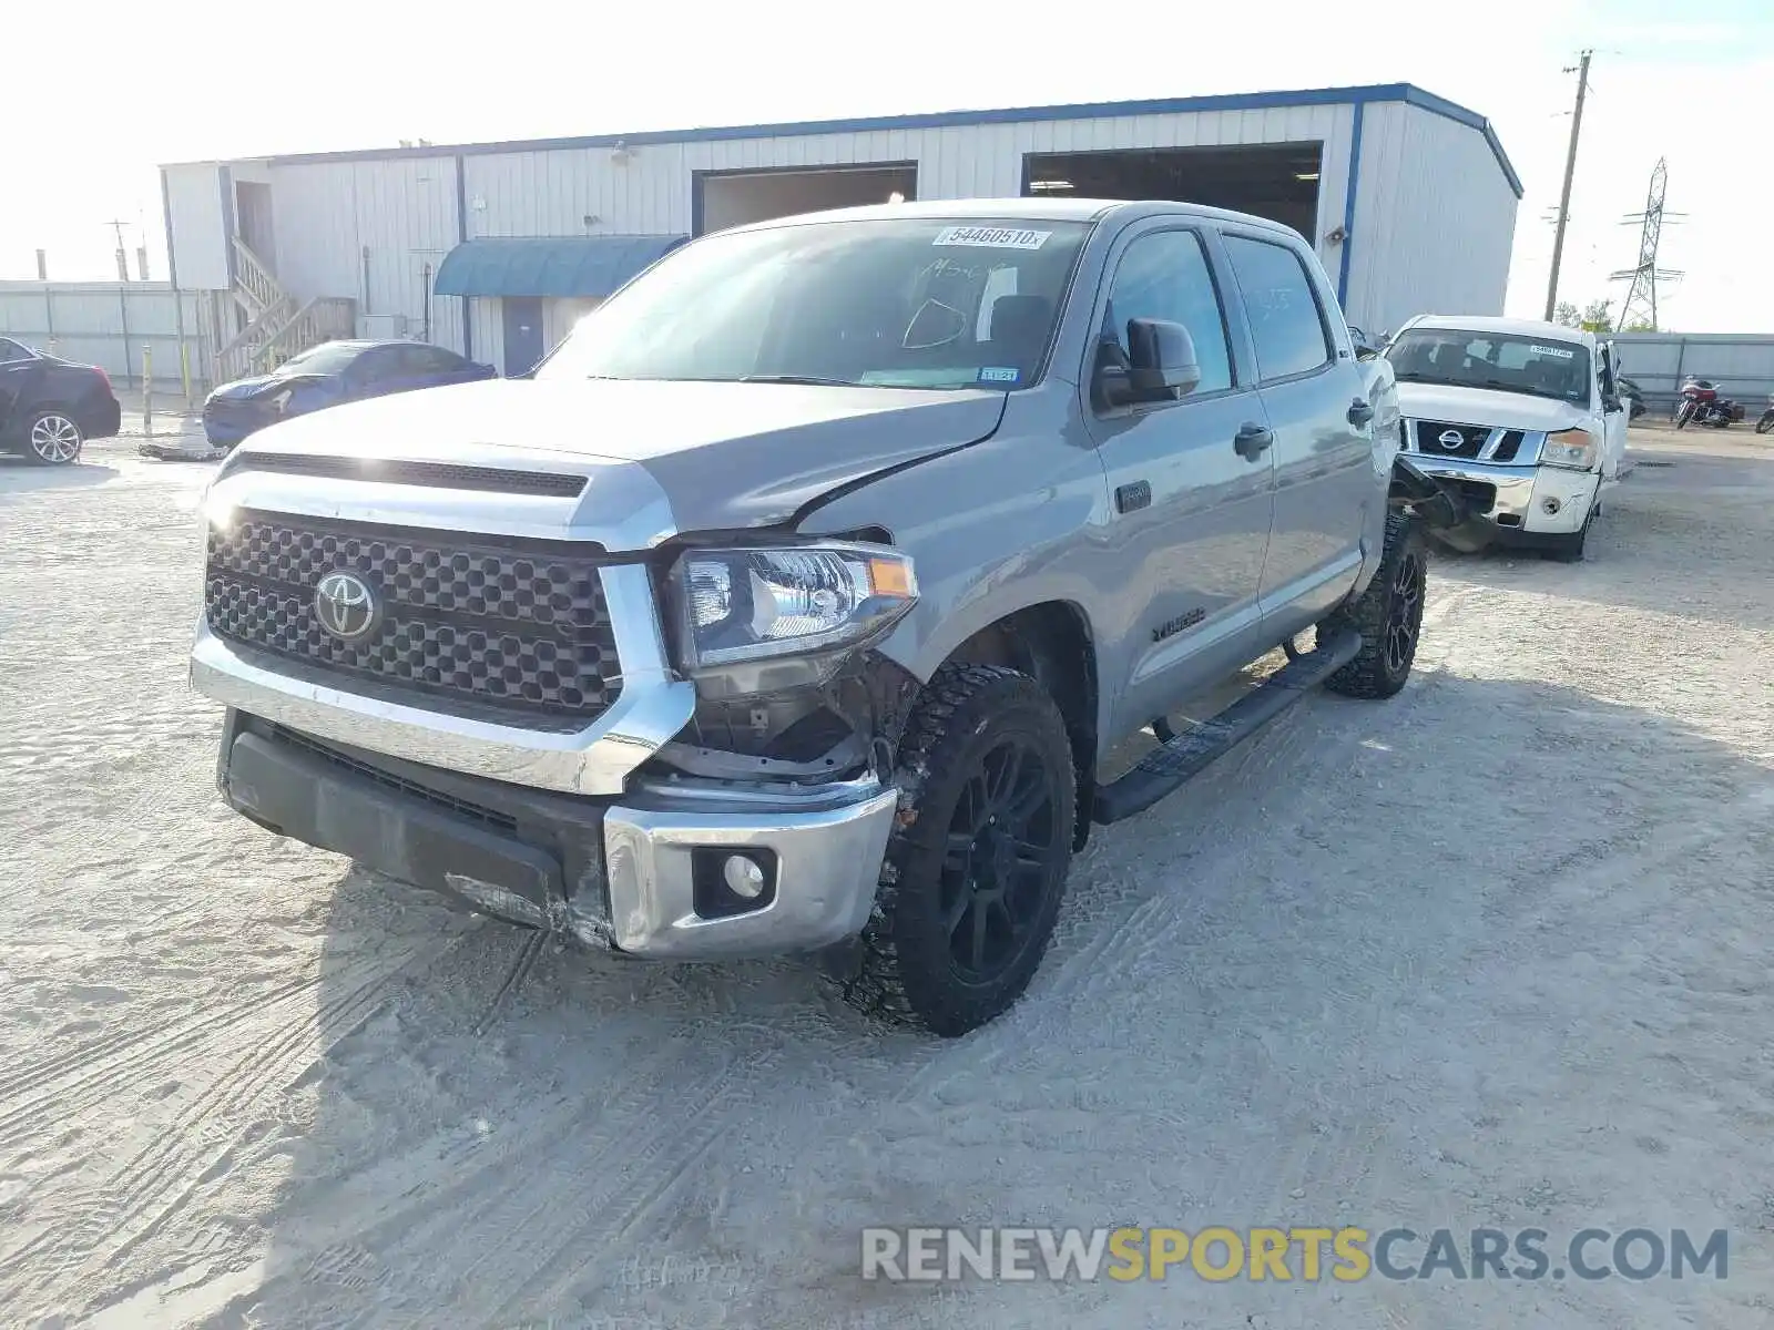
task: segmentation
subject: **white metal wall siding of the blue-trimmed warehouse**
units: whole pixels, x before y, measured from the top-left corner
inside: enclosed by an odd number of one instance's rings
[[[1336,278],[1343,254],[1325,234],[1345,218],[1354,119],[1348,105],[1276,106],[475,153],[463,158],[465,222],[470,238],[687,234],[695,172],[915,161],[919,199],[977,199],[1020,193],[1029,153],[1320,142],[1313,241]],[[1370,103],[1362,119],[1352,317],[1377,332],[1426,303],[1501,309],[1517,200],[1483,133],[1405,103]],[[452,156],[273,163],[279,277],[302,296],[358,300],[378,332],[404,321],[417,335],[424,262],[435,275],[459,234],[454,170]],[[169,170],[186,286],[186,254],[193,273],[209,261],[211,278],[222,257],[204,172],[215,195],[213,167]],[[475,300],[470,317],[475,358],[497,364],[498,301]],[[431,323],[435,340],[461,348],[459,300],[435,300]]]

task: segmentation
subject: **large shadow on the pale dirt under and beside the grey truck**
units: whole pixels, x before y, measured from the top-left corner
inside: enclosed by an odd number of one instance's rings
[[[1449,773],[1478,794],[1423,796]],[[1751,1213],[1774,995],[1724,920],[1765,892],[1770,791],[1737,750],[1572,688],[1313,699],[1100,832],[1024,1002],[953,1043],[883,1030],[798,963],[598,961],[353,871],[263,1277],[209,1323],[1157,1325],[1157,1286],[862,1282],[857,1234],[1208,1201],[1199,1222],[1339,1201],[1370,1222],[1405,1192],[1437,1224]],[[1730,1011],[1696,997],[1721,991]],[[1582,1296],[1652,1323],[1664,1287]],[[1288,1305],[1435,1323],[1444,1293]],[[1215,1295],[1224,1325],[1281,1307]]]

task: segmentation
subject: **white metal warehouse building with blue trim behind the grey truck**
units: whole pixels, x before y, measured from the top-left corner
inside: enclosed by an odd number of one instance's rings
[[[1068,193],[1284,222],[1350,321],[1499,314],[1522,186],[1490,124],[1409,83],[161,168],[172,280],[218,374],[355,332],[514,374],[690,236],[818,207]]]

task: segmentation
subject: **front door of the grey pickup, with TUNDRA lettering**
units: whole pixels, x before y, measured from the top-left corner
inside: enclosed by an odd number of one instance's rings
[[[1114,690],[1116,731],[1128,732],[1261,654],[1256,592],[1274,500],[1268,424],[1231,355],[1201,232],[1180,218],[1130,227],[1107,273],[1080,378],[1109,477],[1103,686]],[[1116,408],[1096,397],[1096,365],[1125,364],[1130,319],[1189,330],[1201,365],[1194,392]]]

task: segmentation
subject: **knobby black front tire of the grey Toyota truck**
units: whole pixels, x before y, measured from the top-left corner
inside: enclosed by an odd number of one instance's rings
[[[1025,911],[1020,933],[1009,933],[1006,906],[990,913],[999,920],[997,936],[1009,936],[1002,968],[986,977],[969,977],[956,961],[954,933],[944,919],[944,894],[969,892],[976,880],[972,857],[985,853],[985,837],[953,865],[953,842],[965,841],[958,821],[969,821],[972,803],[986,793],[990,759],[1022,750],[1036,759],[1050,833],[1038,857],[1040,871],[1017,892]],[[979,784],[985,782],[985,784]],[[946,665],[930,681],[907,724],[899,752],[899,816],[887,842],[875,911],[862,931],[855,970],[841,981],[853,1007],[903,1025],[915,1025],[944,1037],[976,1030],[1009,1009],[1022,997],[1054,935],[1059,904],[1071,865],[1071,835],[1077,809],[1071,745],[1059,708],[1025,674],[997,665]],[[1008,784],[1015,786],[1015,778]],[[1015,793],[1015,791],[1009,791]],[[947,880],[944,878],[949,869]],[[960,878],[956,876],[960,874]],[[953,908],[953,906],[951,906]],[[972,915],[958,915],[972,929]],[[965,943],[972,945],[970,936]]]

